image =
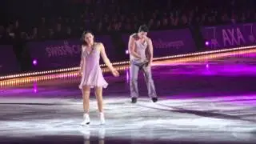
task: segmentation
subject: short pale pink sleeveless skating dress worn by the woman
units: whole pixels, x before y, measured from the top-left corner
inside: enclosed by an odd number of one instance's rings
[[[95,43],[90,53],[87,50],[82,52],[84,65],[82,66],[82,79],[79,89],[82,89],[82,86],[90,86],[90,88],[96,86],[106,88],[108,86],[99,66],[100,51],[97,46],[98,44]]]

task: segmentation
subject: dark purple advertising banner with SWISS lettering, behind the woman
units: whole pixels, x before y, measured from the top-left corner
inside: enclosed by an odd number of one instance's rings
[[[102,42],[106,54],[111,57],[114,46],[110,36],[98,36],[95,42]],[[81,44],[79,39],[68,39],[45,42],[28,42],[31,58],[37,62],[34,70],[54,70],[79,66],[81,60]]]

